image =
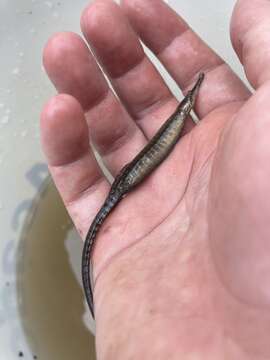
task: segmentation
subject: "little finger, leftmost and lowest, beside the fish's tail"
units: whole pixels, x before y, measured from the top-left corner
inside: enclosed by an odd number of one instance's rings
[[[57,189],[84,237],[109,184],[90,150],[83,110],[73,97],[58,95],[45,105],[41,140]]]

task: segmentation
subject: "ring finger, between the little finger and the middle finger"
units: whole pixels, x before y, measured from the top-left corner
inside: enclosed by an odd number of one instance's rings
[[[44,49],[44,66],[57,90],[80,102],[91,140],[109,170],[117,173],[145,138],[109,89],[84,41],[73,33],[56,34]]]

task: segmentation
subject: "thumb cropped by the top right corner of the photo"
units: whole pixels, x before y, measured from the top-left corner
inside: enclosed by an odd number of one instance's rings
[[[269,17],[268,0],[240,0],[232,16],[232,44],[254,88],[270,79]]]

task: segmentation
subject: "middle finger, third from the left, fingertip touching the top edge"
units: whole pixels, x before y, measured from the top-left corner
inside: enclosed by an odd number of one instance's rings
[[[83,12],[81,27],[124,106],[151,137],[177,101],[121,8],[111,0],[95,1]]]

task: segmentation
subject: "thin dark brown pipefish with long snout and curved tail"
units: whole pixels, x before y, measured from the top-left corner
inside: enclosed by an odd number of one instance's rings
[[[177,106],[175,112],[160,127],[139,154],[136,155],[130,163],[125,165],[116,176],[104,204],[89,228],[82,253],[82,281],[86,300],[93,318],[94,304],[90,279],[90,260],[97,233],[108,214],[115,208],[124,195],[139,185],[172,151],[174,145],[180,138],[185,119],[194,106],[203,79],[204,74],[200,73],[194,87]]]

